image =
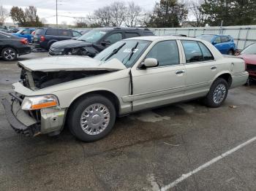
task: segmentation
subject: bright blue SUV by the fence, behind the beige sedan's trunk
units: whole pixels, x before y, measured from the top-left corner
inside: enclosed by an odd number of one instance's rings
[[[230,35],[202,34],[196,38],[211,42],[224,55],[234,55],[236,52],[236,44]]]

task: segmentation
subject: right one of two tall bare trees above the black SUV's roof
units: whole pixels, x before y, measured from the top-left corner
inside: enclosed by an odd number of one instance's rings
[[[127,7],[127,15],[124,20],[125,25],[129,27],[137,26],[141,12],[142,8],[140,6],[136,5],[134,1],[129,1]]]

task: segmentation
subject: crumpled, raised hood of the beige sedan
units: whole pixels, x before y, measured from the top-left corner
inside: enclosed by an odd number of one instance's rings
[[[19,61],[18,66],[28,71],[118,71],[126,69],[124,64],[116,58],[104,63],[94,58],[72,55]]]

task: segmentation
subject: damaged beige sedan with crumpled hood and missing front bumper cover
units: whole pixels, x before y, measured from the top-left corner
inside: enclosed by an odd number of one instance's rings
[[[116,42],[95,58],[64,56],[20,61],[20,81],[7,120],[18,133],[58,135],[67,125],[82,141],[96,141],[117,116],[203,98],[220,106],[230,88],[248,78],[244,61],[225,58],[210,43],[179,36]]]

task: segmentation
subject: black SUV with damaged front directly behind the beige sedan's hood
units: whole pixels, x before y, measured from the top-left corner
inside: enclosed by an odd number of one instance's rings
[[[50,55],[88,55],[94,57],[106,47],[121,39],[135,36],[153,36],[147,28],[95,28],[78,39],[54,43]]]

